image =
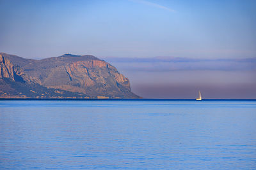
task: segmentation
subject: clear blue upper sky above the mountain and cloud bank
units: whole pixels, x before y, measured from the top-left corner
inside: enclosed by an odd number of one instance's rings
[[[255,1],[0,1],[0,50],[24,57],[254,57]]]

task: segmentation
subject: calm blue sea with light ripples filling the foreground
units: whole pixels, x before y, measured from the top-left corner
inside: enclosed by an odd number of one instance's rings
[[[256,101],[2,100],[0,169],[256,169]]]

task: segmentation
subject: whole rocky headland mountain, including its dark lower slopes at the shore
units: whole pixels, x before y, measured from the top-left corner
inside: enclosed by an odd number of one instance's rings
[[[0,53],[0,97],[139,98],[108,62],[69,53],[42,60]]]

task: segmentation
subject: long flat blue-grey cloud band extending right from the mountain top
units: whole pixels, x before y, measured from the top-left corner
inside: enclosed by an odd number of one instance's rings
[[[185,57],[105,58],[127,71],[256,71],[256,57],[244,59],[190,59]]]

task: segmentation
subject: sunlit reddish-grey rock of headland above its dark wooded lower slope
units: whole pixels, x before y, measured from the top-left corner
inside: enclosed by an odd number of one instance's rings
[[[65,54],[42,60],[1,53],[0,78],[61,89],[82,97],[138,98],[128,78],[108,62],[92,55]]]

